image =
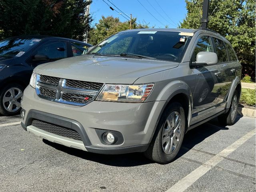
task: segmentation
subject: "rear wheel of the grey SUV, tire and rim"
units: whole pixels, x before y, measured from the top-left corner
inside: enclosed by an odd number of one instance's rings
[[[236,97],[236,103],[234,103],[234,97]],[[235,124],[237,109],[238,109],[238,103],[239,103],[238,91],[235,90],[235,92],[232,96],[232,101],[231,101],[230,108],[229,108],[228,112],[218,116],[218,122],[221,125],[226,126],[226,125],[234,125]]]

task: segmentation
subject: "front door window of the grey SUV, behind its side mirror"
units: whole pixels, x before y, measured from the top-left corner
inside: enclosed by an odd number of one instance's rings
[[[202,36],[200,39],[198,39],[196,48],[191,58],[192,62],[196,61],[196,55],[201,51],[213,52],[212,43],[209,36]]]

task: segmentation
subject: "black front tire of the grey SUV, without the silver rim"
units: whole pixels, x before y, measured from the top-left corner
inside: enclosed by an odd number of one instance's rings
[[[164,126],[166,126],[167,118],[171,114],[173,114],[173,112],[174,113],[178,112],[180,115],[180,123],[181,123],[180,138],[179,138],[178,144],[176,145],[174,151],[171,154],[166,154],[166,152],[164,152],[164,146],[163,146],[164,144],[162,144],[162,137],[164,137],[163,129],[164,129]],[[182,105],[179,102],[173,102],[164,110],[164,112],[160,118],[160,121],[158,123],[158,126],[156,128],[154,137],[152,138],[150,146],[148,147],[146,152],[144,152],[144,155],[147,158],[149,158],[150,160],[160,163],[160,164],[167,164],[167,163],[172,162],[180,150],[180,147],[183,142],[185,130],[186,130],[186,120],[185,120],[184,109],[182,108]],[[175,135],[172,135],[172,137],[174,137],[174,136]],[[171,138],[171,135],[169,135],[169,137]],[[170,140],[170,141],[173,141],[173,140]]]

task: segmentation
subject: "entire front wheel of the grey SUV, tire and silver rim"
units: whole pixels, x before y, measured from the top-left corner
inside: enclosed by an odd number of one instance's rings
[[[164,110],[145,156],[160,164],[172,162],[182,145],[185,127],[184,109],[173,102]]]

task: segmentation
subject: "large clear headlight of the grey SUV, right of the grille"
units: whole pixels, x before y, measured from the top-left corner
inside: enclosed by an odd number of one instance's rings
[[[153,83],[145,85],[104,85],[96,98],[98,101],[144,102],[154,87]]]

